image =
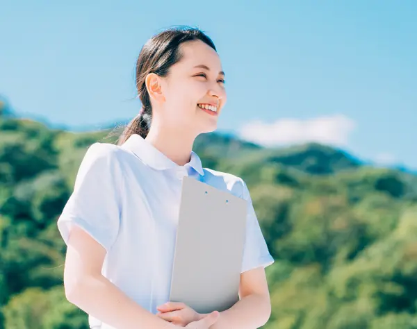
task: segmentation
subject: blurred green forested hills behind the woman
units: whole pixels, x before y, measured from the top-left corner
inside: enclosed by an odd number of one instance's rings
[[[1,106],[0,106],[1,108]],[[90,144],[0,110],[0,328],[88,328],[65,300],[56,219]],[[265,328],[417,328],[417,177],[329,146],[199,137],[204,167],[241,176],[276,262]]]

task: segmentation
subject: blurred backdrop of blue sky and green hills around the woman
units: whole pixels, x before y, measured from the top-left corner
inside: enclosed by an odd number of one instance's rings
[[[416,1],[0,1],[0,328],[86,329],[56,220],[86,149],[134,117],[173,25],[226,71],[204,167],[246,180],[272,329],[417,328]]]

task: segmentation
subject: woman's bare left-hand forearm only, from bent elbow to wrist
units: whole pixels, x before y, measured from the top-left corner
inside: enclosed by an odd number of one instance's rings
[[[104,276],[85,278],[67,298],[84,312],[115,328],[167,329],[171,326],[131,300]]]

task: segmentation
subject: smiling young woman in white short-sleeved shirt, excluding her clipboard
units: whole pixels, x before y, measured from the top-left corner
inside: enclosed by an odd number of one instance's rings
[[[95,143],[58,219],[67,244],[68,301],[91,328],[259,328],[270,317],[264,268],[272,264],[245,182],[203,169],[195,137],[215,130],[226,103],[224,72],[211,39],[194,28],[155,35],[140,51],[142,110],[118,145]],[[184,176],[248,201],[240,300],[197,314],[167,303]]]

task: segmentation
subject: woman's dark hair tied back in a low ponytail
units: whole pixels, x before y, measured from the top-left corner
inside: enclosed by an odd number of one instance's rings
[[[210,37],[198,28],[187,26],[169,28],[158,33],[142,47],[136,62],[136,89],[142,109],[124,128],[117,144],[123,144],[133,134],[138,134],[143,138],[147,136],[152,121],[152,106],[145,85],[147,75],[154,73],[158,76],[167,76],[170,67],[181,60],[182,54],[179,49],[181,44],[197,40],[217,51]]]

